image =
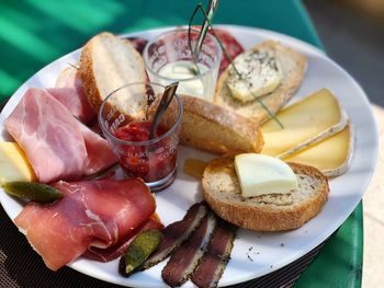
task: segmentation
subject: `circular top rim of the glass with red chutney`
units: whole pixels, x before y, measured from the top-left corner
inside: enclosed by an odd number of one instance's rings
[[[138,85],[138,84],[145,84],[145,85],[156,85],[156,87],[160,87],[162,89],[165,89],[165,85],[161,85],[159,83],[155,83],[155,82],[132,82],[128,84],[124,84],[115,90],[113,90],[112,92],[110,92],[106,97],[103,100],[99,113],[98,113],[98,122],[99,122],[99,126],[101,128],[101,130],[103,131],[104,136],[109,137],[112,141],[114,142],[118,142],[121,145],[131,145],[131,146],[149,146],[149,145],[154,145],[163,139],[166,139],[167,137],[169,137],[170,135],[172,135],[176,129],[180,126],[181,124],[181,119],[182,119],[182,114],[183,114],[183,105],[181,103],[181,100],[179,97],[178,94],[174,94],[173,99],[176,99],[177,103],[178,103],[178,115],[176,118],[176,123],[172,125],[172,127],[166,131],[165,134],[162,134],[160,137],[154,138],[154,139],[149,139],[149,140],[144,140],[144,141],[128,141],[128,140],[123,140],[120,139],[117,137],[115,137],[112,133],[110,133],[110,130],[104,126],[104,120],[102,120],[102,111],[104,108],[104,106],[108,103],[108,100],[113,96],[114,93],[116,93],[117,91],[127,88],[127,87],[132,87],[132,85]],[[133,120],[134,122],[134,120]]]

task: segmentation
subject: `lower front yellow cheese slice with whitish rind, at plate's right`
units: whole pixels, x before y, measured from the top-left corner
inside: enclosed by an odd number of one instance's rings
[[[341,175],[348,170],[352,159],[354,149],[352,131],[349,124],[340,133],[283,160],[315,166],[327,176]]]

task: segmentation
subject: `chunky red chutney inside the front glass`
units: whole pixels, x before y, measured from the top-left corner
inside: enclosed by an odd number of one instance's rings
[[[151,122],[132,122],[120,127],[114,136],[126,141],[146,141],[149,140],[150,126]],[[167,129],[159,125],[155,139],[165,133]],[[172,136],[168,136],[150,145],[120,145],[120,164],[127,176],[140,177],[147,183],[159,181],[176,168],[176,142]]]

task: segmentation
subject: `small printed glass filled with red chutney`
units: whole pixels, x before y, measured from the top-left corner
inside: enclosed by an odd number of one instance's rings
[[[157,136],[149,139],[153,117],[165,87],[156,83],[131,83],[113,91],[99,111],[100,127],[127,177],[140,177],[153,192],[168,187],[176,178],[182,104],[174,95],[161,120]],[[132,105],[143,111],[129,116]],[[139,105],[138,105],[139,106]],[[171,116],[167,116],[171,114]],[[137,119],[138,118],[138,119]]]

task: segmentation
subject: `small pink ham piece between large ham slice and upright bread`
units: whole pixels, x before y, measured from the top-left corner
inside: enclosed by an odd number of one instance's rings
[[[82,80],[75,67],[64,69],[56,87],[47,89],[47,92],[65,105],[70,113],[82,123],[89,123],[95,116],[87,95],[82,89]]]

